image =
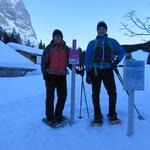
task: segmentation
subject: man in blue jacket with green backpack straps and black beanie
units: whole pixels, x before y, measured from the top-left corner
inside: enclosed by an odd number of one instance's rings
[[[86,82],[92,84],[92,99],[94,106],[93,124],[103,124],[103,116],[100,108],[100,88],[103,81],[109,96],[109,121],[120,123],[116,113],[116,84],[113,69],[123,59],[125,51],[119,43],[107,36],[107,25],[101,21],[97,24],[97,37],[89,42],[86,50]]]

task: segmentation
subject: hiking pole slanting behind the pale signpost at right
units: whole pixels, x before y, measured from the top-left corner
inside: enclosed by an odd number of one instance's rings
[[[117,69],[117,66],[115,68],[113,68],[113,70],[115,71],[118,79],[120,80],[121,84],[123,85],[123,79],[122,79],[122,77],[121,77],[121,75],[120,75],[120,73],[119,73],[119,71]],[[127,90],[125,90],[125,91],[126,91],[127,95],[129,95],[129,92]],[[139,120],[144,120],[144,117],[139,113],[139,111],[138,111],[138,109],[137,109],[135,104],[134,104],[134,108],[135,108],[135,110],[136,110],[136,112],[138,114],[138,119]]]

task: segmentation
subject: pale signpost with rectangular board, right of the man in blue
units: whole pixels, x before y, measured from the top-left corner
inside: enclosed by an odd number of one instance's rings
[[[144,90],[144,61],[134,59],[124,61],[123,87],[129,93],[127,135],[132,136],[134,133],[134,91]]]

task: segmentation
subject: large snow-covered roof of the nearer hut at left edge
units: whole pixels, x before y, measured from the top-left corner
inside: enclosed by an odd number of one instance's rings
[[[31,68],[36,66],[33,62],[14,51],[7,44],[0,41],[0,67],[17,67],[17,68]]]

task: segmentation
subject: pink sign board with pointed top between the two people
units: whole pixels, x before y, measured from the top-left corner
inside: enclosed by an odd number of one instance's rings
[[[76,40],[73,40],[72,49],[69,51],[69,64],[79,64],[79,51],[76,50]]]

